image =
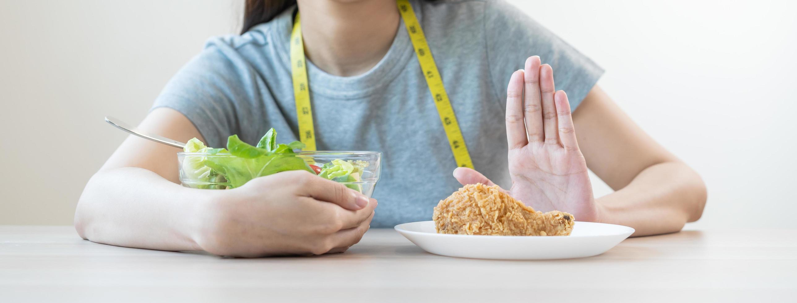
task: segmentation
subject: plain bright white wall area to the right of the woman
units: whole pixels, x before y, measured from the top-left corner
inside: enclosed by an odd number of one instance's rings
[[[795,2],[514,3],[602,65],[599,85],[703,176],[694,226],[797,227]]]

